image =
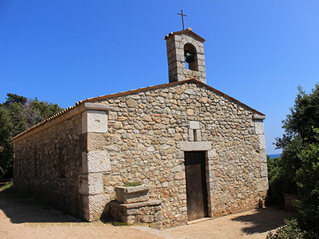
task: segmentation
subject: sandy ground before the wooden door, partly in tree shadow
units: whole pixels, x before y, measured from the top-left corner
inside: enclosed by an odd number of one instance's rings
[[[251,238],[265,239],[268,231],[283,224],[287,217],[295,215],[278,207],[254,209],[188,226],[167,228],[165,231],[185,238]],[[185,230],[187,228],[187,230]]]

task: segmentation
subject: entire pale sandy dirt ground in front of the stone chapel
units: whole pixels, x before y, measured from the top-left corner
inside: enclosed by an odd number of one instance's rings
[[[266,238],[292,212],[275,207],[250,210],[158,231],[145,226],[86,223],[49,207],[0,193],[0,238]]]

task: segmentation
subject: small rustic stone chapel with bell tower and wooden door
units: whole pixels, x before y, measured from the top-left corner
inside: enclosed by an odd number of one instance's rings
[[[206,84],[192,29],[165,40],[169,83],[79,101],[15,136],[15,190],[157,228],[262,207],[265,115]],[[124,189],[137,200],[117,194],[127,182],[143,183]]]

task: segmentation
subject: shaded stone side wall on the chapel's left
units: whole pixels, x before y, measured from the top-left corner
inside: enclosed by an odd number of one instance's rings
[[[15,141],[15,190],[33,193],[83,217],[79,172],[82,172],[84,151],[86,134],[82,134],[82,114]]]

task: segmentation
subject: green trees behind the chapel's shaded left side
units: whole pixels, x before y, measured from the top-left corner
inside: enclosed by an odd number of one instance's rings
[[[0,176],[13,174],[11,138],[61,110],[58,104],[7,93],[6,101],[0,103]]]

